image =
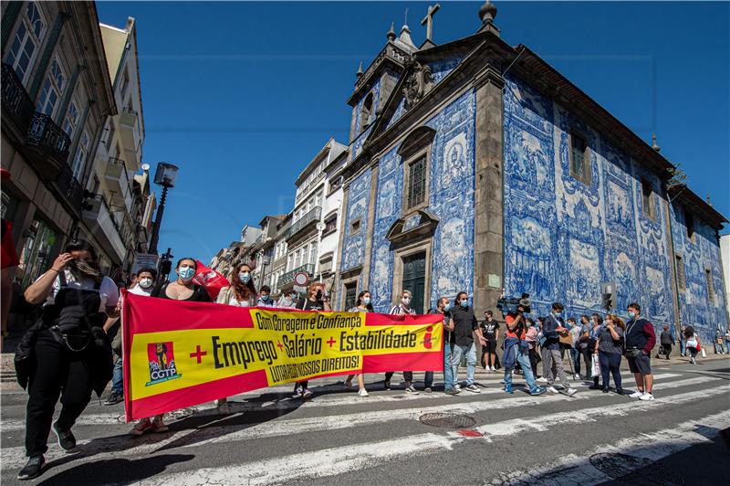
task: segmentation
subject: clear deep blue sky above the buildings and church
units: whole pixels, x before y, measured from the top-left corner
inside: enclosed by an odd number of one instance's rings
[[[433,37],[480,26],[480,2],[441,0]],[[432,4],[433,5],[433,4]],[[641,138],[657,132],[694,191],[730,216],[730,5],[498,2],[496,25]],[[144,160],[180,168],[159,248],[205,262],[241,227],[286,213],[294,180],[334,136],[348,143],[355,71],[403,13],[413,41],[428,4],[99,2],[138,25]]]

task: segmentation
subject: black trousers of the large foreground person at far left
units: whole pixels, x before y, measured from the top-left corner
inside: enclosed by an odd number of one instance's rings
[[[47,330],[38,333],[36,358],[36,374],[28,386],[26,407],[26,454],[29,457],[48,449],[46,443],[58,396],[62,406],[58,427],[68,430],[89,405],[92,388],[88,353],[76,354],[62,348]]]

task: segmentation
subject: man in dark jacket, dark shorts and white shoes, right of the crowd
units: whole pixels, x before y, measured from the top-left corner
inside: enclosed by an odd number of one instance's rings
[[[629,322],[626,322],[626,358],[637,388],[630,396],[640,400],[653,400],[651,356],[652,348],[656,344],[654,326],[652,322],[641,317],[641,306],[638,303],[630,303],[627,310]]]

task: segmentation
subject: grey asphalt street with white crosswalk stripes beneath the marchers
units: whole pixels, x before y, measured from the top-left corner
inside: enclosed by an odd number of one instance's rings
[[[122,404],[92,401],[74,433],[78,452],[49,439],[47,470],[17,481],[25,464],[26,395],[3,390],[5,485],[42,484],[721,484],[730,464],[730,360],[655,363],[656,400],[579,386],[575,397],[506,395],[500,373],[479,369],[483,393],[407,396],[367,375],[370,396],[337,380],[312,382],[183,410],[170,431],[132,438]],[[633,388],[628,371],[624,387]],[[395,375],[393,383],[399,375]],[[464,377],[464,374],[462,374]],[[416,379],[422,374],[416,374]],[[438,383],[439,375],[436,376]],[[417,383],[422,387],[422,383]],[[183,417],[184,416],[184,417]],[[725,429],[725,434],[721,430]]]

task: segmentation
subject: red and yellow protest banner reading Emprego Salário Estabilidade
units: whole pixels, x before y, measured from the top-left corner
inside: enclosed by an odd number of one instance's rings
[[[305,379],[442,371],[440,314],[278,311],[126,293],[127,421]]]

